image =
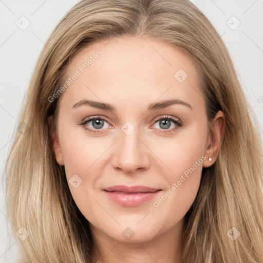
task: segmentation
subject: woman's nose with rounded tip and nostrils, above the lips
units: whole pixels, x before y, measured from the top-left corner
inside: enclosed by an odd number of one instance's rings
[[[120,139],[114,149],[114,157],[111,159],[112,166],[125,173],[133,173],[139,168],[145,170],[149,167],[151,151],[140,137],[137,129],[130,135],[120,131]]]

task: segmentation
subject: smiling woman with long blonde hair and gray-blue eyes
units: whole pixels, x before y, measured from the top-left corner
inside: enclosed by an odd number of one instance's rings
[[[249,111],[191,2],[79,2],[42,50],[7,162],[24,262],[263,262]]]

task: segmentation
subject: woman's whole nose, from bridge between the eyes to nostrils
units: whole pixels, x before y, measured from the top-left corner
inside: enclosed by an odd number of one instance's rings
[[[127,122],[121,129],[113,165],[125,172],[133,172],[138,168],[147,167],[149,165],[147,148],[138,139],[141,137],[139,128],[135,128]]]

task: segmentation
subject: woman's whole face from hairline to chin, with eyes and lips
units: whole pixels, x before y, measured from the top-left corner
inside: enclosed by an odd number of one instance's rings
[[[147,241],[182,227],[214,161],[197,78],[180,50],[141,36],[74,55],[53,143],[93,231]]]

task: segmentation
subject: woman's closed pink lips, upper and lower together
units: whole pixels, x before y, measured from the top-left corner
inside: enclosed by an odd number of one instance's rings
[[[137,206],[153,199],[161,189],[155,189],[143,185],[126,186],[115,185],[103,189],[107,197],[123,206]]]

